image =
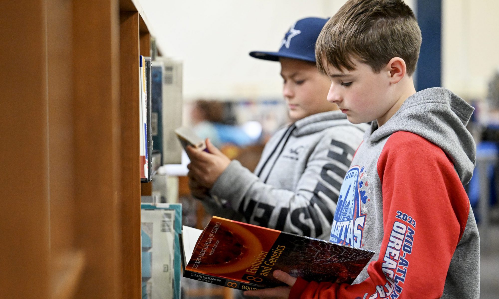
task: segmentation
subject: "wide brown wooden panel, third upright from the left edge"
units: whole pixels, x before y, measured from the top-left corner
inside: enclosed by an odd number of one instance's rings
[[[73,1],[76,244],[85,269],[76,298],[121,296],[119,10]]]

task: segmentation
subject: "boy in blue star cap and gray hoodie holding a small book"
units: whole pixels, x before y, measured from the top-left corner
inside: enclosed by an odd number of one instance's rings
[[[250,53],[280,62],[292,120],[269,140],[254,173],[209,140],[210,153],[188,149],[191,190],[212,214],[329,239],[341,182],[368,126],[352,125],[326,99],[330,81],[315,65],[315,42],[326,21],[300,19],[279,51]]]

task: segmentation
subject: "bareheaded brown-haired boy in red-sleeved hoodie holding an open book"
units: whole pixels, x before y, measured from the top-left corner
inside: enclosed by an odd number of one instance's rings
[[[480,240],[463,184],[475,163],[473,108],[444,88],[416,92],[421,31],[402,0],[349,0],[317,40],[328,100],[372,121],[339,195],[330,241],[377,254],[354,284],[306,282],[262,298],[462,298],[480,293]]]

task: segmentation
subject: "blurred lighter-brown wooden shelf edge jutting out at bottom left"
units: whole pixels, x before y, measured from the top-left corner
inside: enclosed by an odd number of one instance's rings
[[[82,251],[69,252],[57,257],[54,261],[54,276],[52,278],[53,299],[70,299],[80,281],[85,268],[85,255]]]

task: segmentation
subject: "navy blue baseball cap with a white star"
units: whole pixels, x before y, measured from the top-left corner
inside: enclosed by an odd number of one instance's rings
[[[306,17],[291,25],[280,43],[277,52],[252,51],[250,56],[258,59],[279,61],[280,57],[315,62],[315,42],[327,18]]]

